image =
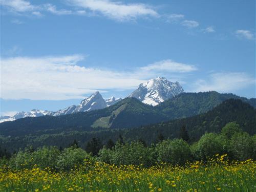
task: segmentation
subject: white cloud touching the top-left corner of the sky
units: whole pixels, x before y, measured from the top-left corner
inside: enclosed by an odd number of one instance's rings
[[[8,7],[13,12],[27,12],[37,9],[25,0],[2,0],[1,5]]]

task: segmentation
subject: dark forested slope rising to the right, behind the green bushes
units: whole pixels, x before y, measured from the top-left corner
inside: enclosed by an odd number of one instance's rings
[[[185,125],[191,140],[196,141],[205,132],[220,132],[226,123],[232,121],[240,124],[243,131],[256,134],[256,109],[240,99],[228,99],[204,114],[130,129],[124,137],[149,143],[156,141],[160,133],[165,138],[176,138]]]

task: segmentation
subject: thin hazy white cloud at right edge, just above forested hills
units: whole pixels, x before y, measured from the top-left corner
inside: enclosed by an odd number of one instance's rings
[[[255,79],[246,73],[212,73],[209,80],[198,80],[195,83],[194,91],[218,91],[231,92],[255,84]]]

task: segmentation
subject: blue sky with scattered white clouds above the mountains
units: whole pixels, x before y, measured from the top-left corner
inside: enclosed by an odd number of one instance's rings
[[[1,115],[151,78],[256,97],[255,1],[1,0]]]

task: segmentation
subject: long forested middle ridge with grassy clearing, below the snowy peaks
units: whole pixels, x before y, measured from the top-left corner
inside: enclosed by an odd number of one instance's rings
[[[91,131],[99,127],[123,129],[195,116],[208,112],[227,99],[240,99],[256,108],[256,99],[218,92],[181,93],[152,106],[127,97],[100,110],[60,116],[27,117],[0,124],[5,136],[59,133],[64,130]]]

